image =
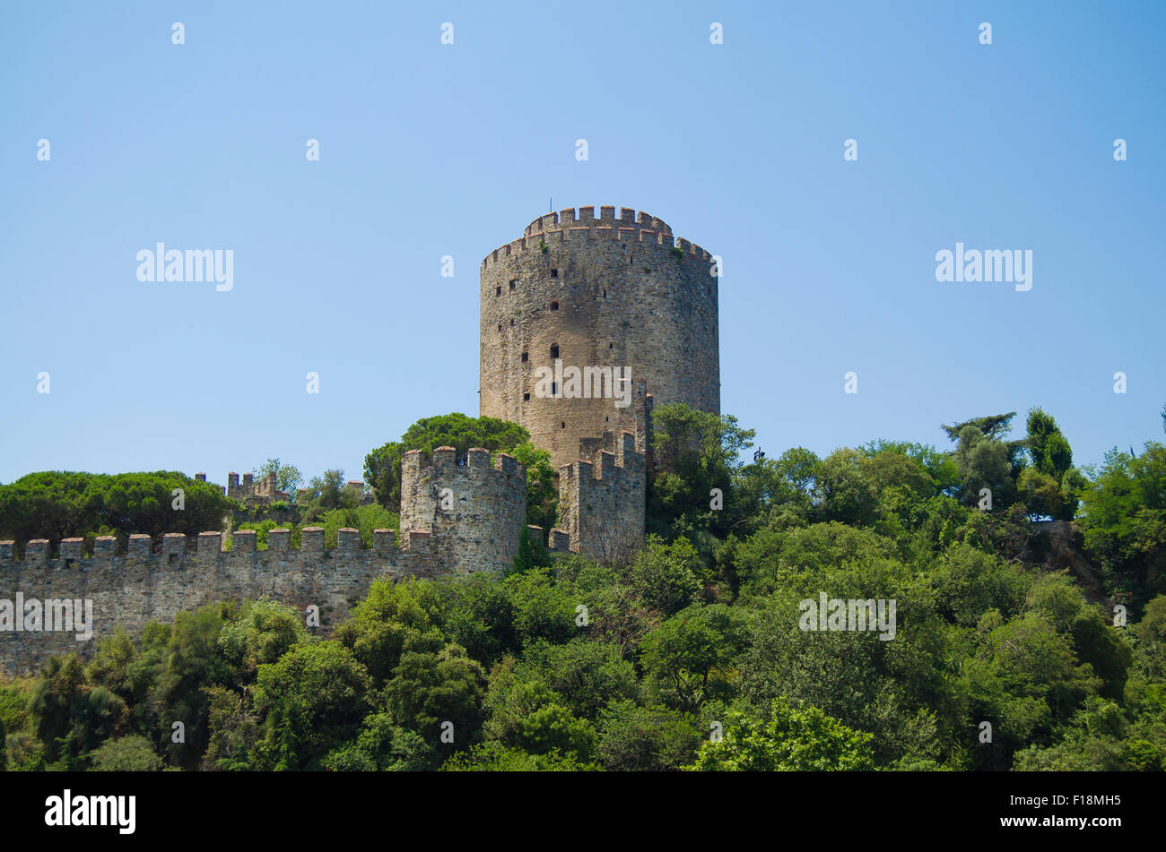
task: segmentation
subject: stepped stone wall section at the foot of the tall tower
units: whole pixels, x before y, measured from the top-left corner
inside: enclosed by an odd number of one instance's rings
[[[600,561],[626,559],[644,545],[646,468],[635,436],[623,433],[616,453],[559,470],[559,502],[570,549]],[[552,531],[555,532],[555,531]]]

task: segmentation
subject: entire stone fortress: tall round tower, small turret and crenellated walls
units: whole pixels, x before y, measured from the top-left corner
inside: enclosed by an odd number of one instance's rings
[[[556,554],[612,560],[644,539],[653,405],[721,410],[717,278],[709,253],[674,240],[662,220],[599,211],[540,216],[483,261],[480,413],[525,426],[559,471],[561,528],[528,527],[532,540]],[[566,381],[539,397],[534,370],[554,371],[556,361],[564,371],[592,368],[600,383],[614,368],[630,375],[619,388],[600,384],[598,398],[566,396]],[[614,404],[617,391],[626,405]],[[526,471],[513,456],[498,453],[491,464],[489,452],[470,449],[458,463],[454,448],[438,447],[431,459],[407,453],[401,468],[399,546],[391,530],[377,530],[370,549],[358,531],[340,530],[337,547],[325,549],[323,528],[305,527],[300,548],[287,530],[272,530],[266,551],[251,531],[236,531],[230,551],[219,532],[171,533],[161,542],[131,535],[124,554],[113,537],[98,538],[92,554],[84,539],[65,539],[54,559],[40,539],[15,560],[14,542],[0,541],[0,673],[34,670],[52,654],[89,654],[117,626],[139,634],[148,620],[216,601],[315,605],[326,633],[377,577],[500,573],[513,563],[526,523]],[[359,482],[349,488],[364,491]],[[274,475],[240,482],[229,474],[224,494],[252,507],[288,498]],[[21,598],[92,602],[92,640],[5,627],[5,602],[12,618]]]

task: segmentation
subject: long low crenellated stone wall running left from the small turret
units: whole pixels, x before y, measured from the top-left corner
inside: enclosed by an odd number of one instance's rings
[[[22,561],[13,560],[13,542],[0,541],[0,602],[78,598],[93,602],[93,637],[77,641],[73,632],[14,632],[0,630],[0,672],[35,670],[52,654],[76,651],[91,654],[101,637],[122,626],[138,636],[148,620],[169,622],[182,610],[216,601],[268,596],[300,610],[319,608],[321,626],[330,631],[343,622],[377,577],[443,574],[441,558],[426,533],[402,535],[393,544],[392,530],[373,534],[372,549],[361,551],[356,530],[340,530],[337,547],[324,549],[324,530],[305,527],[302,546],[289,547],[290,533],[273,530],[268,549],[255,549],[255,533],[236,532],[232,549],[222,549],[222,533],[204,532],[188,541],[181,533],[163,537],[160,553],[152,553],[149,535],[131,535],[128,552],[114,554],[113,537],[97,539],[92,556],[83,554],[83,539],[64,539],[61,556],[48,559],[49,542],[29,541]]]

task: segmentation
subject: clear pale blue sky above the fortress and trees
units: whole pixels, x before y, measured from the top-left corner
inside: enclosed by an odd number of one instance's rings
[[[724,257],[722,406],[771,456],[1033,405],[1079,464],[1161,440],[1164,9],[6,2],[0,481],[360,478],[477,414],[478,264],[548,197]],[[157,241],[234,289],[138,282]],[[1031,249],[1032,290],[936,283],[956,241]]]

